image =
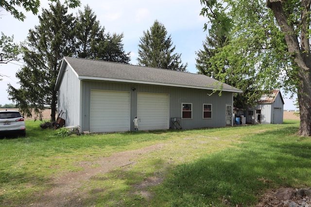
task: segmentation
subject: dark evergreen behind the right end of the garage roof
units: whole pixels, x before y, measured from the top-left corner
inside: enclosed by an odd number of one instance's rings
[[[228,32],[230,31],[228,30],[226,33]],[[242,74],[235,73],[237,71],[234,69],[235,63],[230,63],[225,57],[222,64],[216,65],[213,62],[213,58],[219,55],[218,52],[229,43],[230,40],[225,32],[210,30],[209,36],[206,37],[206,41],[203,43],[204,49],[196,52],[196,68],[199,70],[199,74],[207,75],[241,89],[243,91],[242,94],[235,94],[234,106],[246,110],[247,107],[257,105],[259,97],[263,93],[267,93],[267,91],[261,90],[257,85],[254,85],[255,76],[246,71]],[[226,75],[228,71],[230,71],[230,74]]]

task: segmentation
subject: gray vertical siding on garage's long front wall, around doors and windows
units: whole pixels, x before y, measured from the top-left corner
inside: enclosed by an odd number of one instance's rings
[[[63,85],[63,83],[62,83]],[[135,87],[136,90],[132,91]],[[79,87],[78,87],[79,88]],[[113,90],[131,92],[131,117],[133,120],[137,114],[137,93],[163,93],[169,94],[170,118],[181,117],[182,103],[192,103],[192,119],[182,119],[183,128],[198,127],[225,127],[226,104],[232,105],[232,93],[223,92],[222,96],[213,94],[208,96],[211,91],[203,89],[187,89],[169,86],[154,86],[137,83],[117,83],[109,81],[81,81],[81,130],[89,130],[90,114],[90,90]],[[78,99],[76,99],[78,100]],[[78,101],[77,101],[78,102]],[[203,104],[212,105],[212,119],[203,119]],[[170,123],[171,126],[171,123]],[[131,121],[131,130],[134,124]]]

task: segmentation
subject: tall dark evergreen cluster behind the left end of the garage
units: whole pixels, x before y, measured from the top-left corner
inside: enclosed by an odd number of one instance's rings
[[[9,84],[10,99],[28,117],[34,111],[41,118],[41,111],[50,108],[51,121],[55,121],[58,97],[54,88],[63,57],[129,63],[122,37],[123,34],[104,34],[104,28],[88,6],[75,17],[59,1],[51,3],[23,45],[25,65],[16,74],[20,88]]]

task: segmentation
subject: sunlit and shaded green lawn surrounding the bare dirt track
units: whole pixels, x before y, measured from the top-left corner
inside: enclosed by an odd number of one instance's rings
[[[83,206],[255,206],[267,189],[311,186],[311,138],[294,135],[298,121],[68,137],[26,126],[26,138],[0,140],[0,206],[31,205],[53,177],[82,171],[77,162],[154,144],[161,147],[130,168],[86,180]],[[160,184],[140,188],[150,178]]]

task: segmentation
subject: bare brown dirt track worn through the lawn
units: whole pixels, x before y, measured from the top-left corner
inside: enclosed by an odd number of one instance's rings
[[[83,181],[86,181],[97,174],[108,173],[115,168],[130,168],[136,164],[136,160],[141,158],[147,153],[163,148],[163,144],[155,144],[148,147],[144,147],[138,150],[124,151],[116,153],[110,157],[104,157],[95,161],[95,164],[99,167],[92,167],[92,162],[79,162],[77,165],[84,168],[83,171],[69,172],[61,177],[55,177],[52,180],[54,186],[51,190],[44,192],[44,196],[38,198],[39,202],[33,203],[30,206],[33,207],[64,207],[74,206],[82,207],[82,201],[89,196],[89,192],[77,191],[82,187]],[[141,184],[137,184],[135,187],[139,190],[139,194],[148,198],[149,192],[145,188],[157,185],[163,180],[162,177],[148,177]]]

